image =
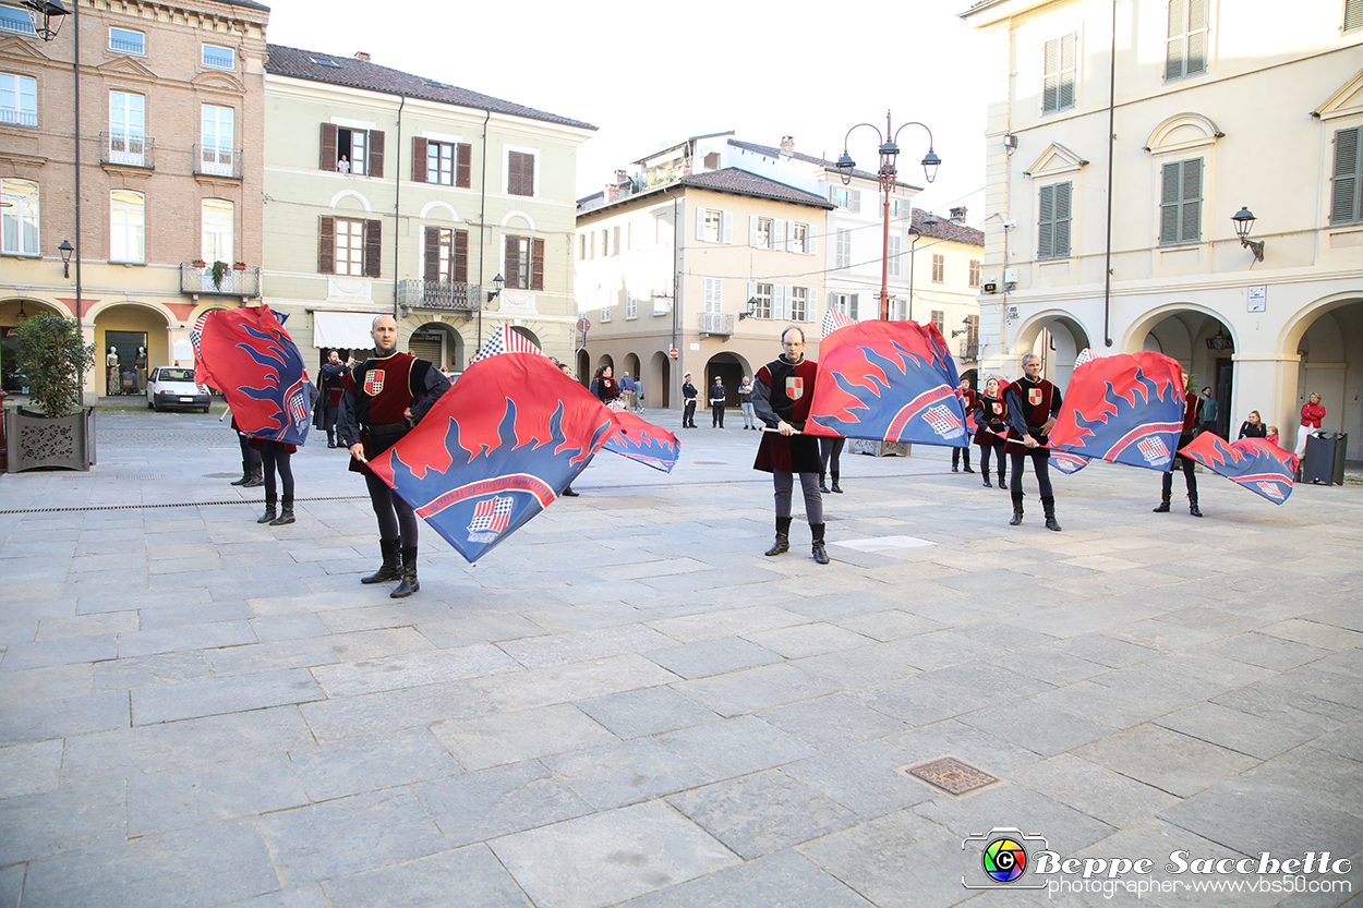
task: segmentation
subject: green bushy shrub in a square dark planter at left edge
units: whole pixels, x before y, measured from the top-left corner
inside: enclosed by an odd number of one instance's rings
[[[80,375],[94,365],[94,345],[76,323],[44,312],[15,331],[29,375],[30,408],[5,410],[10,472],[59,466],[89,470],[94,454],[94,408],[80,405]]]

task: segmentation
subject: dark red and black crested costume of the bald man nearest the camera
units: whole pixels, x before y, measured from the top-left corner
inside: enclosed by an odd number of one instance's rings
[[[363,444],[367,461],[393,447],[450,387],[450,382],[431,363],[398,352],[365,360],[343,382],[337,431],[346,447]],[[405,416],[408,410],[410,421]],[[391,596],[410,596],[420,589],[416,514],[354,457],[350,458],[350,470],[364,473],[369,500],[379,518],[379,548],[383,551],[383,566],[360,582],[401,579]]]

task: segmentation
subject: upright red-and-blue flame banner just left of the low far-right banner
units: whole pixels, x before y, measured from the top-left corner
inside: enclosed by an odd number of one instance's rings
[[[1183,367],[1163,353],[1120,353],[1077,365],[1051,449],[1168,470],[1183,431]]]

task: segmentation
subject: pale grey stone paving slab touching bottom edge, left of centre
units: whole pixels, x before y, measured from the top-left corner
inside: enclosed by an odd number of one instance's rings
[[[540,908],[604,908],[739,863],[662,802],[532,829],[491,847]]]

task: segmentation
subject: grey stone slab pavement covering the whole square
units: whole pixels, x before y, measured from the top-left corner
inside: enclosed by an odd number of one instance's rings
[[[1278,509],[1202,473],[1195,519],[1150,513],[1154,473],[1096,464],[1056,479],[1050,533],[1035,496],[1007,526],[1006,492],[942,449],[844,455],[819,567],[799,524],[762,556],[754,434],[680,435],[673,474],[602,454],[476,567],[424,532],[402,601],[357,582],[378,543],[341,451],[294,458],[285,528],[228,485],[215,414],[101,413],[89,474],[0,477],[0,905],[1359,892],[1363,488]],[[902,772],[942,757],[998,781]],[[1108,901],[1039,874],[1032,838],[1013,892],[966,889],[995,828],[1150,860],[1133,885],[1257,890]],[[1165,868],[1321,851],[1352,860],[1302,875],[1330,893]],[[1069,889],[1017,890],[1048,881]]]

